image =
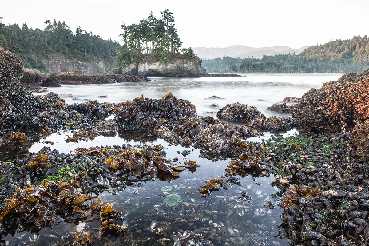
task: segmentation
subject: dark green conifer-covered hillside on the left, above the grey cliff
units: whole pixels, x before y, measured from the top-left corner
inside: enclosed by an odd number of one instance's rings
[[[0,22],[0,46],[4,46],[23,60],[25,67],[47,72],[41,59],[50,59],[58,55],[75,58],[81,62],[104,60],[115,64],[116,41],[104,40],[100,36],[82,30],[73,32],[63,21],[45,21],[45,29],[33,29],[26,23],[4,25]]]

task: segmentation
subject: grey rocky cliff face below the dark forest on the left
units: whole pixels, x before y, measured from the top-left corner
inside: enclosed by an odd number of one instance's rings
[[[70,59],[65,56],[59,56],[54,59],[42,59],[42,62],[51,72],[66,72],[79,70],[84,73],[97,73],[110,71],[114,66],[101,60],[100,62],[80,62],[76,59]]]

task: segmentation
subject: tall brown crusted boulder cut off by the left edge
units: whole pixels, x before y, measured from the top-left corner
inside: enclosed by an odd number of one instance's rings
[[[4,100],[10,98],[15,92],[22,76],[21,60],[10,51],[0,47],[0,108]]]

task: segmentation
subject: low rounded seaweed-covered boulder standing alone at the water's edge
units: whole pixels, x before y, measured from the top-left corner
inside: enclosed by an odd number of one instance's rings
[[[217,117],[219,119],[240,123],[248,123],[259,117],[265,119],[265,116],[259,112],[256,107],[248,106],[247,104],[242,103],[231,103],[225,105],[224,108],[221,108],[217,112]]]

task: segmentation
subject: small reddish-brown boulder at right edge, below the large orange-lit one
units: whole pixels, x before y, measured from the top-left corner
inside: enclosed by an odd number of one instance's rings
[[[369,121],[355,126],[350,145],[356,160],[369,161]]]

